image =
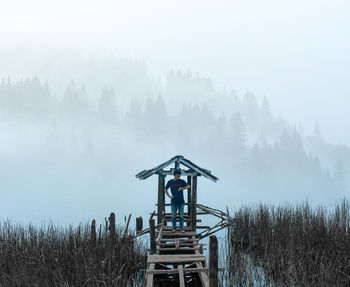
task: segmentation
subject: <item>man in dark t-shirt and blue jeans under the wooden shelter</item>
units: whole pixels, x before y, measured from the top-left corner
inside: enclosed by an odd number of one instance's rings
[[[180,231],[185,232],[184,227],[184,189],[189,189],[191,186],[184,181],[183,179],[180,179],[181,177],[181,170],[175,169],[174,170],[174,179],[170,179],[164,189],[164,192],[166,195],[171,198],[171,221],[172,221],[172,232],[176,231],[176,213],[179,211],[179,218],[180,218]],[[171,195],[168,192],[168,188],[170,187]]]

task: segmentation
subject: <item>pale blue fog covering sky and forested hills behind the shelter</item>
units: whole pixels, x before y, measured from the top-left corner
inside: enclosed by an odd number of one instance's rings
[[[181,154],[198,201],[348,196],[345,1],[13,1],[0,10],[0,218],[148,216]]]

